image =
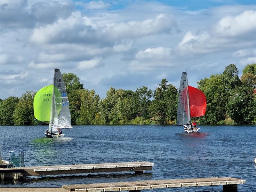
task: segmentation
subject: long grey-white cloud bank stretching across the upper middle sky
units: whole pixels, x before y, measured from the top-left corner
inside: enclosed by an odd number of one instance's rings
[[[174,19],[166,14],[158,14],[153,19],[107,23],[103,26],[88,17],[82,17],[76,11],[67,19],[59,19],[54,24],[36,28],[30,41],[33,43],[73,43],[113,44],[123,39],[169,33],[174,26]]]

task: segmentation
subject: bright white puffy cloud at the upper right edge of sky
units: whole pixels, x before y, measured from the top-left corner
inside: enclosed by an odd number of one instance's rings
[[[256,11],[248,10],[235,17],[226,16],[216,25],[216,31],[223,36],[237,36],[256,29]]]

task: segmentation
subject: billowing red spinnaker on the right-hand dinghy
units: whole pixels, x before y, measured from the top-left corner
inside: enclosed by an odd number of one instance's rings
[[[206,98],[204,93],[188,85],[188,95],[191,117],[203,116],[206,110]]]

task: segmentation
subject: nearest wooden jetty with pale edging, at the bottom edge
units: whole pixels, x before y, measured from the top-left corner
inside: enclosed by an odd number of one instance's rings
[[[245,180],[231,177],[209,177],[170,180],[145,180],[133,182],[93,183],[79,185],[64,185],[69,191],[79,192],[105,192],[105,191],[130,191],[140,192],[145,189],[200,187],[223,185],[223,192],[237,192],[237,184],[244,184]]]

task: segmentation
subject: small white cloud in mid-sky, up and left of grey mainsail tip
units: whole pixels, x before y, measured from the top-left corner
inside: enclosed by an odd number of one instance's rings
[[[153,59],[153,60],[161,60],[167,59],[171,55],[171,48],[168,47],[157,47],[157,48],[148,48],[144,51],[139,51],[136,54],[136,59]]]

